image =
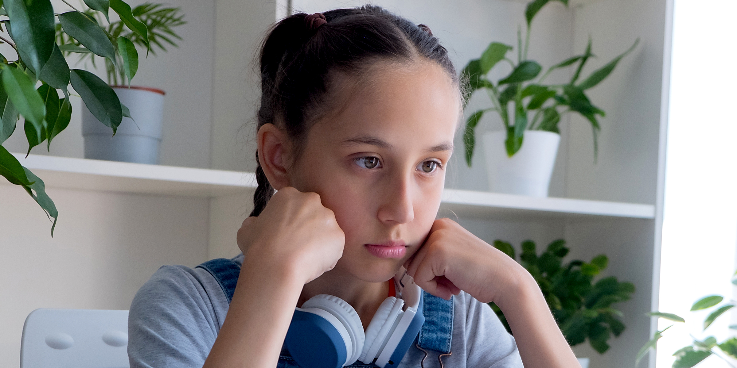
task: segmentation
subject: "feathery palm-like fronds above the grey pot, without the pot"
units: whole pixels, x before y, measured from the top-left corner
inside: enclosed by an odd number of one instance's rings
[[[96,12],[94,10],[85,10],[84,13],[92,18],[97,24],[104,24],[105,20],[108,20],[108,26],[105,27],[105,32],[112,38],[118,39],[120,37],[130,40],[133,45],[147,48],[150,43],[151,54],[156,56],[156,51],[167,52],[165,44],[169,44],[174,47],[179,47],[177,44],[178,40],[182,38],[177,35],[172,28],[186,24],[184,21],[184,14],[181,13],[180,7],[164,7],[164,4],[153,4],[150,2],[141,4],[134,7],[132,10],[133,16],[148,29],[148,40],[144,40],[141,35],[133,32],[131,29],[125,26],[125,21],[121,18],[119,21],[109,22],[108,15]],[[56,24],[56,40],[59,43],[60,49],[66,52],[67,55],[71,52],[77,52],[82,54],[80,61],[90,60],[93,67],[97,67],[96,54],[86,49],[78,40],[75,40],[66,32],[63,32],[61,23]],[[155,46],[155,47],[154,47]],[[124,54],[120,54],[121,57]],[[127,74],[125,74],[125,68],[121,68],[123,62],[122,59],[116,60],[118,66],[113,64],[113,61],[108,58],[103,58],[105,61],[105,71],[108,76],[108,84],[110,85],[122,85],[126,80]],[[137,58],[136,58],[137,61]],[[137,63],[136,63],[137,68]],[[133,71],[135,74],[135,71]],[[130,84],[130,78],[128,79]]]

